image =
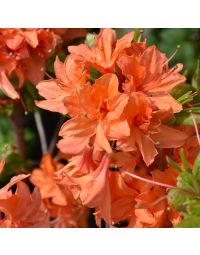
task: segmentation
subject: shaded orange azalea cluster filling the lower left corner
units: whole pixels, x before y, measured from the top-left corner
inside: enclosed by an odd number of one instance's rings
[[[1,161],[1,171],[4,160]],[[62,164],[54,162],[50,154],[43,157],[41,168],[32,172],[35,184],[30,193],[23,181],[30,175],[17,175],[0,189],[1,228],[86,227],[88,210],[77,203],[71,192],[53,179],[54,171]],[[17,185],[13,192],[13,186]]]

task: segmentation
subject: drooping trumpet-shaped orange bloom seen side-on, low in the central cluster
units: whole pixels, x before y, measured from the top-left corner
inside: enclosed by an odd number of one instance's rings
[[[110,222],[110,156],[101,155],[100,162],[95,162],[92,159],[93,153],[90,147],[86,148],[82,156],[74,157],[56,175],[60,184],[72,191],[75,199],[79,198],[87,207],[98,208],[106,222]]]

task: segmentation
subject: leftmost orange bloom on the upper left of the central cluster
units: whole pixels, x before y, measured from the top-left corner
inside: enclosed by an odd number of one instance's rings
[[[79,113],[77,87],[84,85],[88,77],[84,68],[85,63],[79,56],[68,56],[64,64],[56,58],[54,63],[56,79],[42,81],[37,85],[39,94],[46,100],[36,101],[36,105],[71,116]]]

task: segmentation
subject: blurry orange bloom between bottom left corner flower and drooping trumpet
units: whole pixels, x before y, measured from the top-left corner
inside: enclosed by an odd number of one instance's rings
[[[75,201],[71,191],[54,178],[62,167],[59,161],[46,154],[40,168],[33,170],[30,180],[40,190],[43,206],[50,216],[50,227],[87,226],[88,210]]]

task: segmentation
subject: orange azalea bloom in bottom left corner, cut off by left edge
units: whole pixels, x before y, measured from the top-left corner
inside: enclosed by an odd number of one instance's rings
[[[28,186],[21,180],[27,175],[13,177],[0,189],[0,227],[48,227],[48,215],[41,207],[41,197],[38,189],[30,194]],[[17,183],[13,194],[9,189]]]

